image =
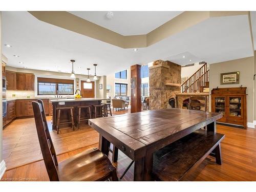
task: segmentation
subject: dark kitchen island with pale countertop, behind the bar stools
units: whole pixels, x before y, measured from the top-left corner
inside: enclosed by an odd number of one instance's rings
[[[106,99],[102,99],[102,98],[80,98],[80,99],[74,99],[74,98],[69,98],[69,99],[50,99],[50,101],[52,102],[52,107],[53,107],[53,116],[52,116],[52,129],[56,130],[56,117],[57,117],[57,108],[65,108],[65,107],[70,107],[73,106],[73,116],[74,116],[74,124],[76,125],[77,122],[77,118],[78,118],[78,113],[77,113],[77,109],[76,106],[88,106],[88,105],[96,105],[96,104],[100,104],[102,100],[106,100]],[[81,117],[85,117],[86,116],[86,112],[84,112],[83,110],[81,110]],[[70,121],[70,112],[69,110],[65,110],[65,111],[61,111],[61,115],[60,115],[60,121]],[[62,124],[60,127],[67,127],[69,126],[69,123],[67,124]]]

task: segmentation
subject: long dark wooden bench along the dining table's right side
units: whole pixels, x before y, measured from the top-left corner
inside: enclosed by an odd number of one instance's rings
[[[156,180],[180,181],[208,155],[221,164],[220,142],[225,135],[198,130],[154,153],[153,175]]]

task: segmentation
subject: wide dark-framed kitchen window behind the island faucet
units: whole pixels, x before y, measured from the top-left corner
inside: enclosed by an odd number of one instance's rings
[[[73,95],[74,80],[37,78],[37,95]]]

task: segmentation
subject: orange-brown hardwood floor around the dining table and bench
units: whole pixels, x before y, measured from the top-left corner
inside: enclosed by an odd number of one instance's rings
[[[130,113],[117,111],[114,115]],[[215,163],[214,158],[206,158],[197,169],[186,176],[186,181],[256,181],[256,130],[242,130],[234,127],[217,125],[217,132],[225,134],[222,146],[222,165]],[[78,133],[78,132],[74,132]],[[54,143],[55,144],[55,143]],[[77,150],[58,155],[58,161],[63,161],[70,156],[81,153],[98,144],[82,147]],[[55,145],[55,149],[57,146]],[[109,154],[111,158],[111,154]],[[130,164],[131,159],[119,151],[117,175],[120,177],[124,169]],[[123,177],[123,181],[133,180],[134,165]],[[8,170],[2,180],[35,180],[49,181],[44,161],[37,161],[24,166]]]

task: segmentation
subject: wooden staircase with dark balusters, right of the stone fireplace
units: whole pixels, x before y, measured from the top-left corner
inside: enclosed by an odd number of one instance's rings
[[[209,87],[209,65],[205,63],[183,84],[181,84],[181,93],[203,92],[203,88]]]

